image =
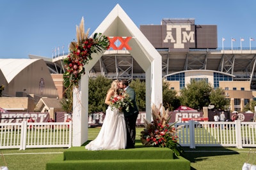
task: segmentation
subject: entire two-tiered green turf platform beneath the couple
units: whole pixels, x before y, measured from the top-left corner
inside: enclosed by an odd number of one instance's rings
[[[190,169],[189,160],[168,148],[88,151],[72,147],[46,164],[46,170],[65,169]]]

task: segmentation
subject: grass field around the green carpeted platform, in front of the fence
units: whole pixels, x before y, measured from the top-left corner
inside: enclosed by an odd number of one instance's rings
[[[100,128],[89,129],[89,139],[94,139]],[[140,143],[140,131],[136,129],[136,145]],[[6,149],[0,150],[3,156],[0,159],[0,166],[9,170],[27,169],[43,170],[49,160],[62,154],[67,148],[28,148],[26,150]],[[256,164],[256,148],[224,148],[224,147],[196,147],[191,149],[184,147],[184,157],[191,162],[191,169],[242,169],[244,162]]]

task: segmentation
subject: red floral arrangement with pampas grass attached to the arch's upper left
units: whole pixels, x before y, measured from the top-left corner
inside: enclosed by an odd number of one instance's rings
[[[65,64],[65,73],[63,74],[63,85],[66,88],[78,87],[81,76],[85,74],[84,65],[92,60],[92,53],[103,52],[109,48],[109,39],[102,33],[95,33],[92,38],[88,37],[89,30],[84,32],[84,18],[76,26],[77,42],[71,42],[69,54],[63,60]]]

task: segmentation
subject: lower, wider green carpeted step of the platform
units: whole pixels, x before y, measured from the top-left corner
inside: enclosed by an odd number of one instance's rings
[[[190,162],[183,157],[176,159],[118,159],[118,160],[63,160],[63,157],[46,164],[46,170],[113,170],[113,169],[161,169],[189,170]]]

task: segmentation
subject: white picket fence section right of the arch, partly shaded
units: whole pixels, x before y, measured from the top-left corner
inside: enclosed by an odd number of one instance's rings
[[[181,146],[256,147],[256,122],[196,122],[177,123]]]

